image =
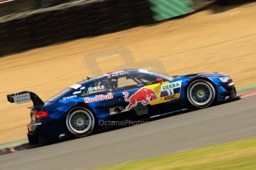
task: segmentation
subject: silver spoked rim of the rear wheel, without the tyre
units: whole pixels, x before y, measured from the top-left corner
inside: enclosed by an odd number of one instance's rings
[[[93,118],[85,110],[76,110],[68,118],[68,126],[76,134],[83,135],[94,126]]]

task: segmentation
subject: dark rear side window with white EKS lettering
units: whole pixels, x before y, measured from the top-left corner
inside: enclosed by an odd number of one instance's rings
[[[99,95],[106,92],[113,92],[113,89],[108,79],[103,79],[101,81],[95,81],[93,84],[86,87],[84,92],[82,92],[82,96]]]

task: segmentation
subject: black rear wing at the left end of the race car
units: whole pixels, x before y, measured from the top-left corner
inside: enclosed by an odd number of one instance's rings
[[[39,98],[38,95],[36,95],[33,92],[27,92],[27,91],[7,95],[7,101],[9,101],[10,103],[17,103],[17,104],[33,101],[33,106],[39,106],[44,104],[44,102],[42,101],[41,98]]]

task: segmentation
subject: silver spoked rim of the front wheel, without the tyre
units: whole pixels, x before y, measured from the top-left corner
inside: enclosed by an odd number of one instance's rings
[[[192,103],[197,106],[205,106],[211,102],[213,98],[213,90],[209,84],[198,82],[191,86],[189,90],[189,98]]]

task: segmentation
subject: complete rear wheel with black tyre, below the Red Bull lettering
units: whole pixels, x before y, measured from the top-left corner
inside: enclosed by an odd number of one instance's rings
[[[89,109],[76,107],[68,112],[66,126],[68,131],[76,137],[87,136],[93,132],[95,118]]]

